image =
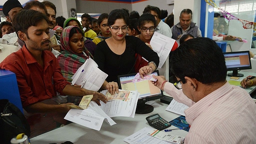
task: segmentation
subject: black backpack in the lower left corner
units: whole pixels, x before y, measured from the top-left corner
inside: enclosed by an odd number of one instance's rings
[[[0,100],[0,144],[10,144],[11,139],[21,133],[30,136],[30,126],[25,116],[9,100]]]

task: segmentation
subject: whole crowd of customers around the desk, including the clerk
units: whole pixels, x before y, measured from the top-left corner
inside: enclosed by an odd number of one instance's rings
[[[72,17],[56,17],[56,6],[49,1],[32,0],[23,7],[18,0],[7,0],[3,12],[6,22],[0,24],[2,39],[6,35],[6,40],[14,40],[13,45],[19,49],[4,56],[0,69],[16,74],[31,136],[39,134],[38,129],[46,132],[56,124],[67,124],[63,117],[71,109],[69,105],[77,104],[44,100],[57,95],[79,100],[92,94],[98,105],[100,101],[108,102],[100,92],[71,84],[72,76],[88,58],[108,74],[101,90],[111,94],[118,93],[118,75],[138,72],[143,78],[154,72],[160,60],[150,40],[154,32],[159,32],[177,40],[170,53],[170,70],[177,82],[171,84],[163,76],[154,76],[158,80],[152,83],[190,107],[185,111],[191,125],[185,143],[256,141],[252,135],[256,132],[256,104],[245,90],[226,81],[222,51],[213,40],[200,38],[201,30],[191,21],[190,9],[182,10],[180,22],[175,25],[173,14],[168,16],[166,10],[150,5],[142,15],[125,8],[103,13],[97,20],[83,14],[81,23]],[[216,32],[218,29],[218,33],[224,33],[220,24],[214,26]],[[254,81],[244,80],[241,85],[252,85],[249,82]],[[54,112],[50,119],[56,122],[37,122],[49,112]],[[234,131],[238,131],[236,136]]]

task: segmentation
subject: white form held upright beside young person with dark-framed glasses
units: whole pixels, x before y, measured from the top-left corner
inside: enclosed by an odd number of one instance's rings
[[[172,50],[174,42],[174,39],[169,38],[168,36],[164,36],[159,32],[154,32],[150,40],[150,45],[159,56],[160,62],[158,68],[162,68],[162,66],[164,65],[164,62],[166,61],[170,54],[170,51]]]

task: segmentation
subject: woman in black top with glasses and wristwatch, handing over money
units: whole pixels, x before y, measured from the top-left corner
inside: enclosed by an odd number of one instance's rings
[[[128,24],[129,18],[124,10],[112,10],[108,17],[108,26],[112,36],[97,45],[94,60],[100,70],[108,74],[106,83],[116,81],[118,75],[134,73],[136,53],[149,62],[148,66],[139,70],[142,78],[143,74],[150,74],[158,67],[159,57],[156,52],[139,38],[126,36]]]

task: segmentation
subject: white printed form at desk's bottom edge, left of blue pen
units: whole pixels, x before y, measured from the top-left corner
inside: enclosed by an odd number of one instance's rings
[[[153,128],[145,127],[142,130],[124,138],[124,142],[129,144],[174,144],[172,142],[160,140],[153,136],[150,136],[149,133],[154,132]]]

